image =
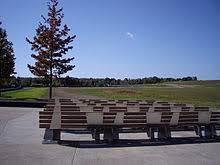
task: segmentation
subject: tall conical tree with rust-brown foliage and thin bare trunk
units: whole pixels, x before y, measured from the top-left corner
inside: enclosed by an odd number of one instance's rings
[[[74,57],[63,58],[73,48],[69,44],[76,35],[68,35],[70,29],[67,25],[61,27],[64,17],[62,11],[62,8],[58,9],[58,0],[50,0],[48,17],[42,16],[44,23],[40,22],[32,41],[26,38],[27,42],[32,45],[31,49],[36,52],[31,55],[36,62],[34,65],[28,65],[28,68],[36,76],[49,78],[50,98],[52,98],[53,77],[59,77],[75,67],[70,65]]]

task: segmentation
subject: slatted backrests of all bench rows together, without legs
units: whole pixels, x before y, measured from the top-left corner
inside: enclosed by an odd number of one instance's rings
[[[137,127],[146,125],[220,124],[220,110],[187,104],[141,100],[50,100],[39,113],[40,128],[90,125]]]

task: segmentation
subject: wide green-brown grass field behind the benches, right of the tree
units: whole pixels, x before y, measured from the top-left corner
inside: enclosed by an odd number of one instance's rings
[[[66,92],[106,99],[161,100],[220,107],[220,81],[172,82],[141,88],[70,88]]]

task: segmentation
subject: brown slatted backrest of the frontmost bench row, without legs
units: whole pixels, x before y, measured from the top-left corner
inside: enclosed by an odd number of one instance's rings
[[[85,128],[91,125],[137,127],[147,125],[220,124],[220,112],[76,112],[43,111],[40,128]]]

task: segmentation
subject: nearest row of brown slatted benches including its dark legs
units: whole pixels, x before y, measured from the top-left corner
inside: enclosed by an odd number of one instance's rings
[[[90,109],[91,106],[62,105],[64,102],[70,101],[52,100],[44,111],[39,112],[40,128],[53,130],[53,140],[60,139],[60,130],[63,129],[90,130],[92,137],[97,141],[100,140],[101,133],[104,133],[105,140],[117,140],[123,129],[146,131],[151,139],[154,139],[154,132],[158,132],[158,138],[167,139],[171,138],[171,130],[186,126],[195,128],[199,136],[203,136],[204,127],[206,137],[215,137],[216,126],[220,124],[219,110],[204,111],[193,107],[191,111],[182,111],[186,106],[179,106],[176,111],[171,111],[174,107],[161,106],[158,109],[153,107],[154,111],[152,107],[139,107],[138,110],[134,108],[131,111],[129,106],[123,107],[125,109],[110,106],[108,111],[104,111],[105,106],[92,106]]]

